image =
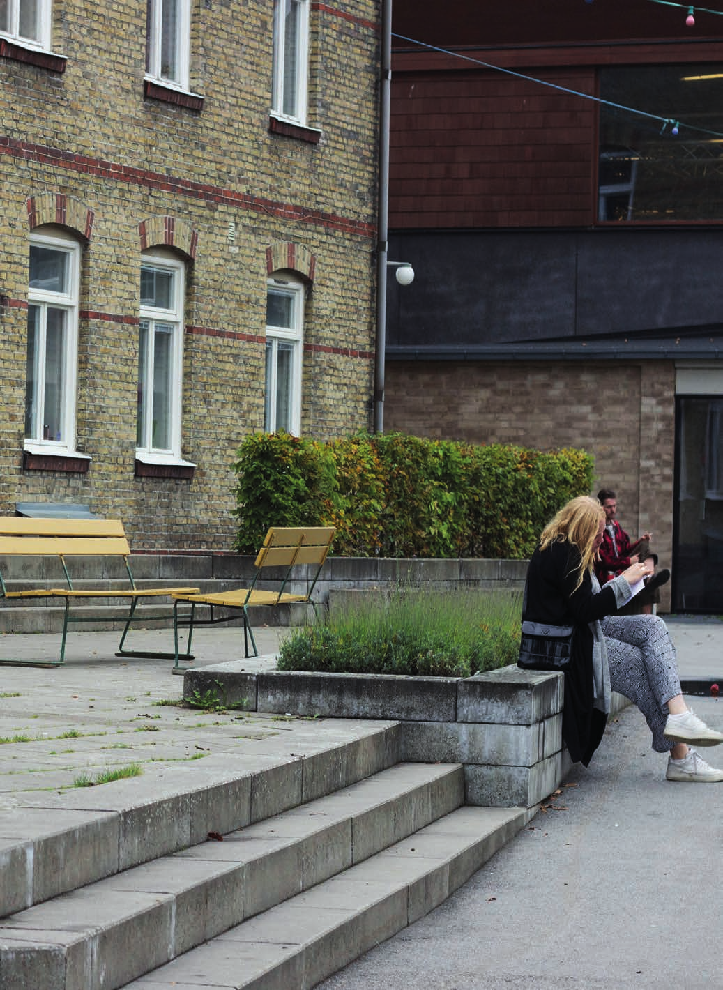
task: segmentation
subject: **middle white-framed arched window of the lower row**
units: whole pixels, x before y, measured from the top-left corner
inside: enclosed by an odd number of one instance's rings
[[[170,254],[144,254],[138,352],[136,454],[180,460],[185,268]]]

